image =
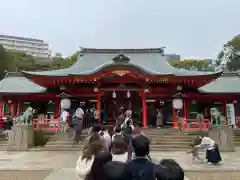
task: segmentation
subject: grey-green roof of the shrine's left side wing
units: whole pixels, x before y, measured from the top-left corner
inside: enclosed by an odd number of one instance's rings
[[[16,73],[8,75],[0,81],[0,93],[41,93],[45,88]]]

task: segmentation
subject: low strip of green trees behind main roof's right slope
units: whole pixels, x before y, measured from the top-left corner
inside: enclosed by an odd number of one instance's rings
[[[188,59],[183,61],[173,61],[171,65],[176,68],[186,69],[186,70],[197,70],[197,71],[213,71],[214,70],[211,60]]]

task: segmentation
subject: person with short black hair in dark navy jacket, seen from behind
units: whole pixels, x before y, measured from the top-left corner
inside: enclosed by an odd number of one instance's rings
[[[150,141],[147,137],[139,135],[132,140],[136,159],[125,165],[122,179],[126,180],[156,180],[155,164],[148,160]]]

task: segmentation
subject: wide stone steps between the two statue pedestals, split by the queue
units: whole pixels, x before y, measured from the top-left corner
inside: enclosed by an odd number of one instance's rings
[[[187,151],[189,144],[195,135],[188,135],[174,129],[155,129],[143,130],[144,134],[151,140],[151,151]],[[86,135],[85,135],[86,136]],[[56,133],[52,135],[48,143],[42,150],[46,151],[81,151],[83,143],[72,146],[72,138],[67,134]]]

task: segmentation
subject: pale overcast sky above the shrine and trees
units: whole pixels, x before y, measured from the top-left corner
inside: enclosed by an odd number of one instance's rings
[[[216,58],[240,31],[240,0],[1,0],[0,34],[85,48],[157,48]]]

